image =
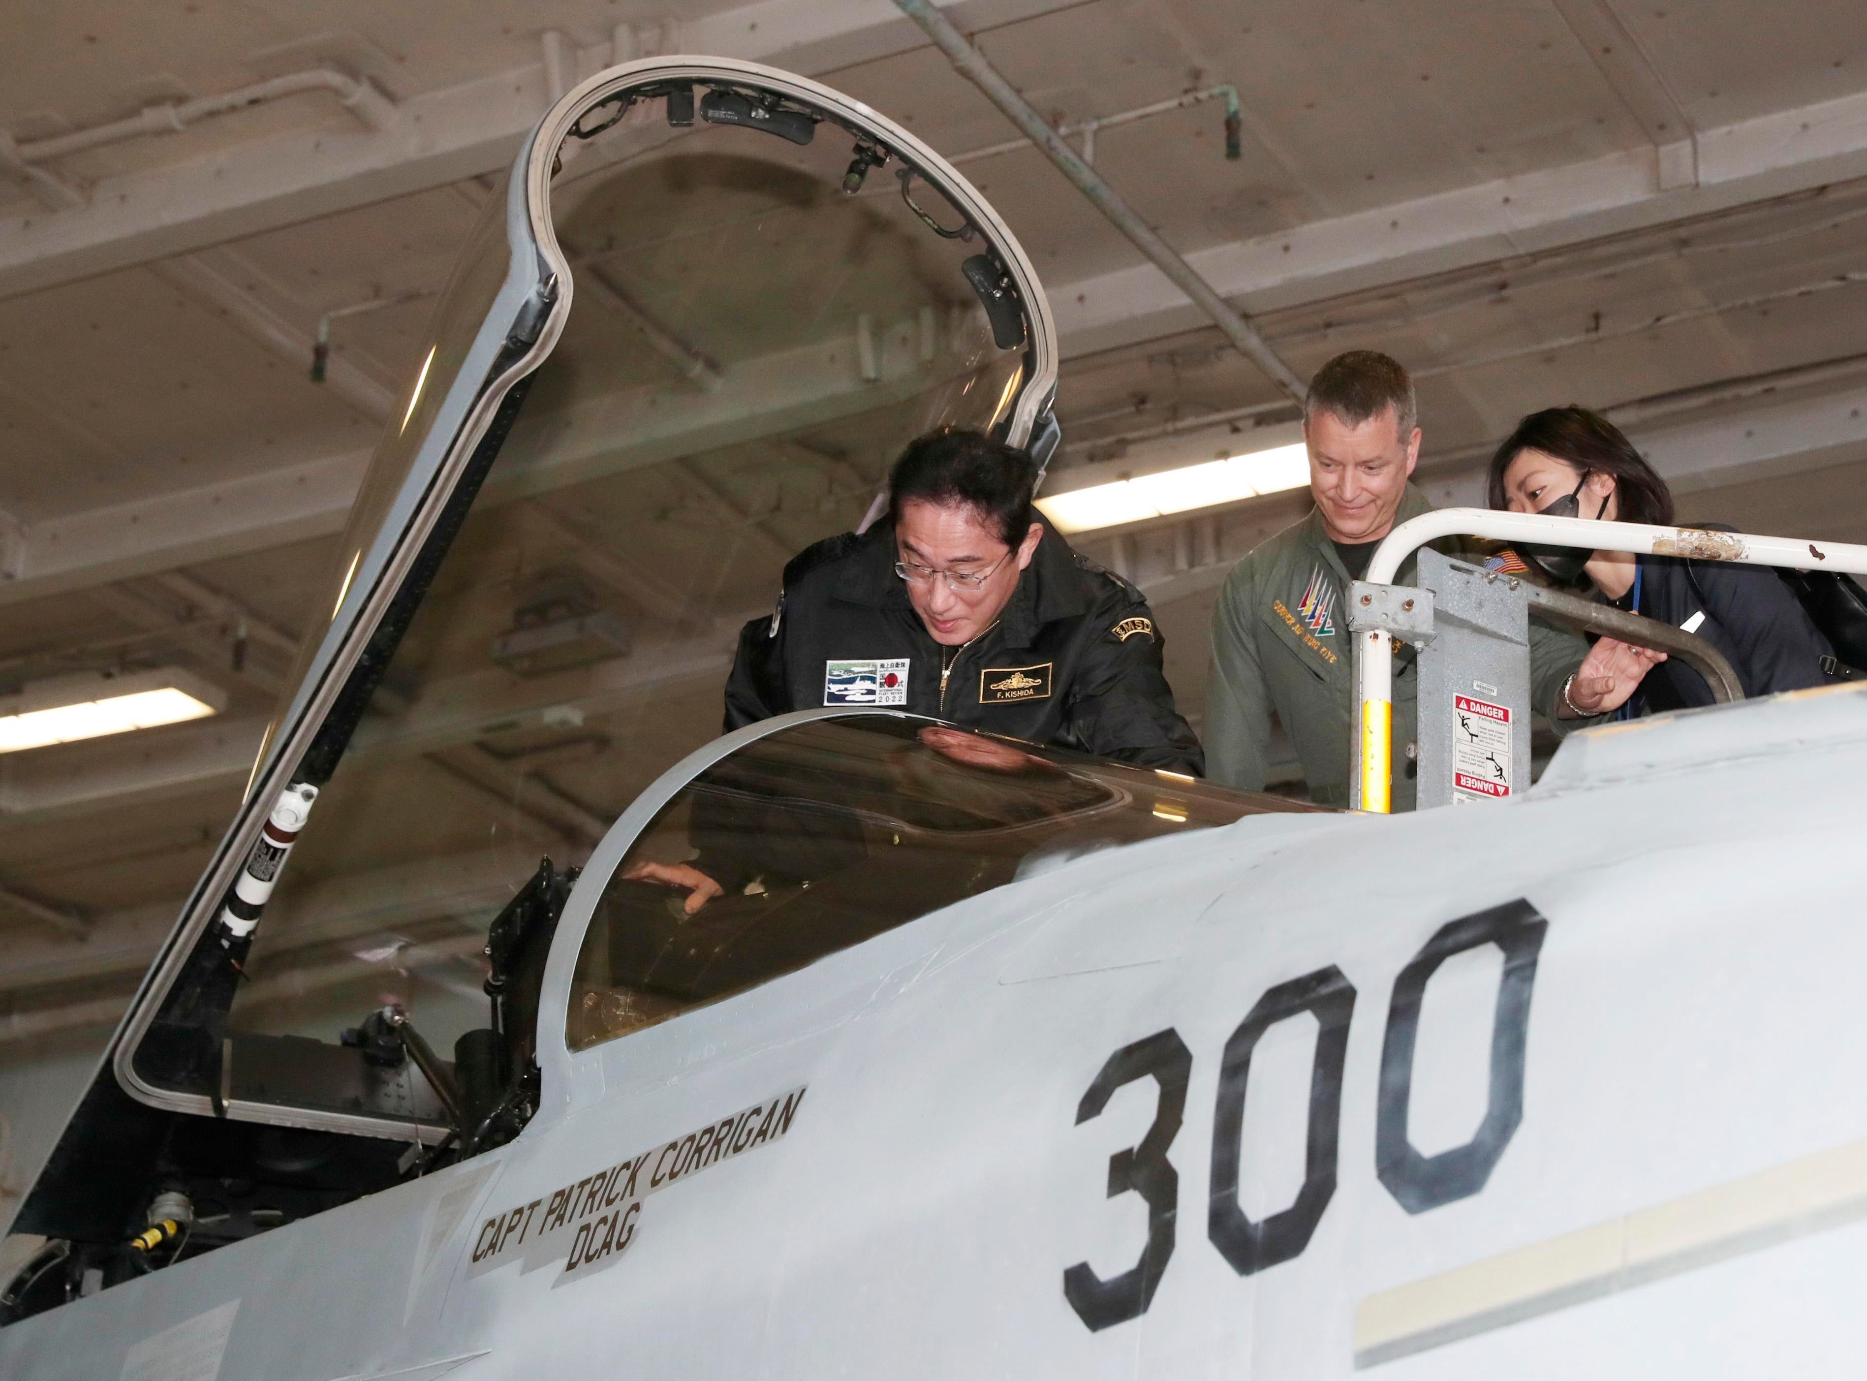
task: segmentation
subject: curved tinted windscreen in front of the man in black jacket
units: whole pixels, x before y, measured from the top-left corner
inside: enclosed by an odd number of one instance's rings
[[[1085,853],[1262,808],[934,720],[812,715],[693,776],[635,836],[579,950],[564,1038],[590,1049]],[[693,905],[642,877],[657,862],[721,894]]]

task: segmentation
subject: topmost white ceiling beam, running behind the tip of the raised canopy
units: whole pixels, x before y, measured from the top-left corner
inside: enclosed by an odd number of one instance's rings
[[[1079,2],[969,0],[956,11],[976,30]],[[678,49],[665,47],[668,41],[661,35],[653,49],[773,62],[805,77],[922,43],[889,0],[758,0],[681,21]],[[618,52],[624,60],[642,56],[627,30],[620,43],[568,56],[584,73]],[[545,69],[540,52],[523,67],[411,95],[381,131],[319,127],[250,140],[105,177],[84,205],[69,211],[0,218],[0,297],[498,172],[551,105]]]

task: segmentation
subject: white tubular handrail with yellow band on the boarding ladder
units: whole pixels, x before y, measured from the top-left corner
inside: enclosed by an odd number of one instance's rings
[[[1794,571],[1867,575],[1867,547],[1805,537],[1761,537],[1751,532],[1656,528],[1643,523],[1559,519],[1544,513],[1499,513],[1488,508],[1439,508],[1408,519],[1387,534],[1369,562],[1369,584],[1391,584],[1400,564],[1439,537],[1488,537],[1581,551],[1628,551],[1639,556],[1690,556],[1706,562],[1783,565]],[[1355,659],[1355,732],[1361,735],[1359,806],[1385,814],[1393,791],[1393,636],[1361,633]]]

